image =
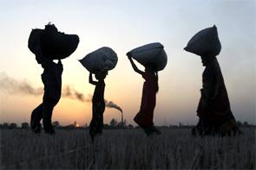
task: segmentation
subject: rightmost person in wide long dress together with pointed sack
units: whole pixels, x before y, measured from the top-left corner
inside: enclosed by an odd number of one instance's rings
[[[196,135],[235,135],[240,132],[230,108],[226,86],[216,55],[220,54],[217,28],[206,28],[194,35],[185,50],[198,54],[203,66],[202,89],[197,108],[199,123],[193,129]]]

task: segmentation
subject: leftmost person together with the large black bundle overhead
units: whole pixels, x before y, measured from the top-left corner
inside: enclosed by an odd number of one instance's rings
[[[48,24],[45,29],[33,29],[29,38],[30,51],[36,55],[36,61],[43,67],[42,81],[44,85],[43,103],[32,111],[30,127],[35,133],[40,133],[43,119],[45,133],[53,135],[55,130],[51,123],[52,111],[61,98],[62,93],[62,61],[75,52],[79,38],[70,38],[57,31],[55,25]],[[65,49],[69,46],[69,50]],[[72,44],[72,45],[71,45]],[[72,49],[71,49],[72,48]],[[65,51],[63,53],[63,51]],[[59,60],[56,64],[53,60]]]

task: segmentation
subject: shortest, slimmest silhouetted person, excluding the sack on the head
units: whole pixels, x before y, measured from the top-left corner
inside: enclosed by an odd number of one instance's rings
[[[92,98],[92,120],[89,124],[89,135],[92,142],[94,142],[95,135],[102,134],[103,129],[103,113],[105,110],[105,82],[104,79],[108,75],[108,71],[99,71],[95,73],[95,78],[98,81],[94,81],[92,73],[89,73],[89,83],[95,85],[95,92]]]

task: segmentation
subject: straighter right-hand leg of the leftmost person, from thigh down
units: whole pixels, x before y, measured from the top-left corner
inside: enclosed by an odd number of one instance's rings
[[[55,130],[51,124],[51,116],[56,104],[50,101],[43,101],[43,129],[45,133],[55,134]]]

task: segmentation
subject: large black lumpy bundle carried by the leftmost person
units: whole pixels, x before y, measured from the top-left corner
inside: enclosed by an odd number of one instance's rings
[[[54,24],[48,24],[44,29],[32,29],[29,38],[30,51],[36,54],[36,47],[40,46],[43,55],[51,60],[69,57],[75,52],[78,43],[78,35],[61,33]]]

